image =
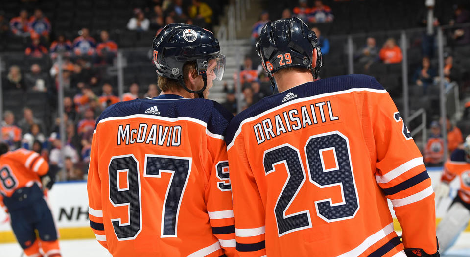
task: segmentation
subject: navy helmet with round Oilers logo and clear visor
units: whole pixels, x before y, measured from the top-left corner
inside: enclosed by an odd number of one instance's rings
[[[155,37],[152,44],[153,61],[159,76],[180,81],[190,93],[202,92],[207,86],[207,69],[210,61],[215,61],[214,80],[222,80],[225,70],[225,56],[220,54],[219,41],[214,34],[204,28],[188,24],[168,24]],[[183,66],[188,61],[196,62],[196,70],[203,77],[204,87],[190,90],[183,80]]]

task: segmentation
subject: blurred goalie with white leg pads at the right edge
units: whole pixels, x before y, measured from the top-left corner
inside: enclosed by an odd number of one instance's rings
[[[436,187],[437,202],[449,195],[449,183],[460,178],[460,188],[437,227],[441,254],[455,242],[459,234],[467,227],[470,220],[470,136],[465,139],[463,149],[455,149],[450,160],[444,164],[441,183]]]

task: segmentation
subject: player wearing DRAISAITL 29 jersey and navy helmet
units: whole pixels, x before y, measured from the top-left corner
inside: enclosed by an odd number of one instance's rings
[[[256,50],[281,93],[225,138],[240,256],[439,256],[431,180],[387,91],[366,75],[314,81],[321,50],[297,17],[268,22]]]

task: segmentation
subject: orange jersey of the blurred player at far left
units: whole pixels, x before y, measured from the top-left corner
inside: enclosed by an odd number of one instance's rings
[[[41,187],[40,176],[46,175],[49,165],[38,153],[26,149],[18,149],[0,156],[0,203],[9,209],[18,206],[10,197],[17,189],[38,185]],[[41,193],[35,195],[43,197]],[[22,199],[21,206],[31,199]],[[31,200],[32,201],[32,200]],[[9,202],[10,204],[7,204]]]

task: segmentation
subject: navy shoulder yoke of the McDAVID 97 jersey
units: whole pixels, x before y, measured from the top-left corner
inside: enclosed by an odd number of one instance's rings
[[[148,113],[147,109],[155,107],[157,112]],[[125,117],[134,114],[156,115],[168,118],[189,117],[207,124],[207,130],[213,134],[225,135],[227,126],[234,117],[219,103],[204,99],[185,99],[180,97],[161,97],[154,99],[135,99],[118,102],[106,108],[96,121],[95,129],[100,120],[109,117]]]

